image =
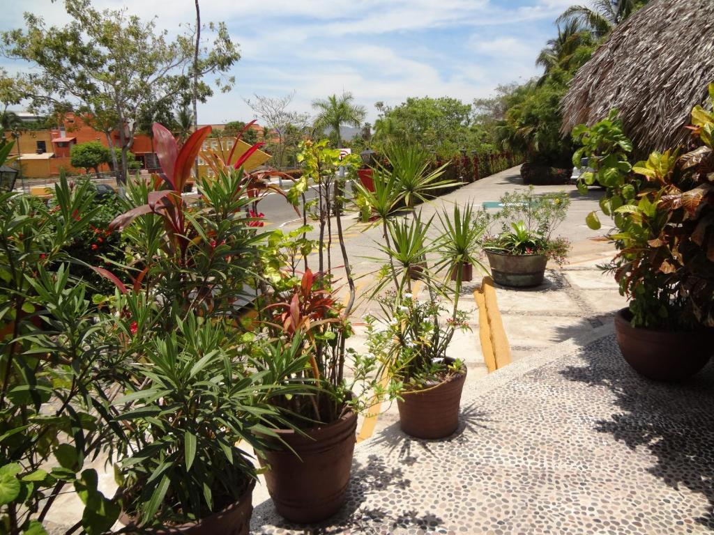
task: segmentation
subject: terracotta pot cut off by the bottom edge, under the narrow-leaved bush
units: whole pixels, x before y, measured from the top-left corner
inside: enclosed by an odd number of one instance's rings
[[[201,519],[198,522],[187,522],[186,524],[165,528],[142,529],[141,533],[152,535],[248,535],[251,529],[253,488],[255,486],[256,481],[251,480],[248,489],[235,504],[231,504],[211,516],[206,516],[205,519]],[[134,525],[134,520],[124,511],[119,515],[119,521],[124,526]]]

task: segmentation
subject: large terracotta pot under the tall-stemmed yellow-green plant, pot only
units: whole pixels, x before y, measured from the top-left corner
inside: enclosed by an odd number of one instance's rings
[[[349,412],[337,422],[294,431],[276,432],[288,449],[268,450],[266,484],[275,508],[288,521],[308,524],[328,519],[345,501],[352,469],[357,414]]]

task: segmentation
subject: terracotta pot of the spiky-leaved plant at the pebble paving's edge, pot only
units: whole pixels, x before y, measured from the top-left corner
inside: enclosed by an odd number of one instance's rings
[[[453,363],[453,359],[447,359],[447,362]],[[463,374],[435,387],[404,392],[404,401],[397,400],[402,431],[418,439],[443,439],[453,434],[458,427],[465,381],[466,367]]]

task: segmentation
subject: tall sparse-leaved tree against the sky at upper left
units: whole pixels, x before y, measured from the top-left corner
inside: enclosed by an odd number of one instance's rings
[[[205,101],[213,94],[201,82],[208,74],[223,76],[218,88],[228,91],[234,80],[226,73],[240,54],[224,24],[210,25],[216,37],[210,49],[200,49],[196,61],[198,26],[170,41],[153,19],[141,21],[126,9],[97,11],[89,0],[64,4],[69,24],[46,26],[41,17],[26,13],[26,29],[1,34],[0,54],[35,68],[20,75],[31,88],[27,96],[34,107],[69,102],[100,123],[114,122],[121,148],[116,178],[124,183],[126,155],[142,114],[166,101],[190,101],[192,88]]]

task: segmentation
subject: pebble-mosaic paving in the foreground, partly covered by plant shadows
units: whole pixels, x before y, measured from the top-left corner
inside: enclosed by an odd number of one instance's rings
[[[251,532],[714,533],[714,363],[651,382],[607,335],[528,366],[464,392],[453,437],[409,439],[394,424],[358,444],[329,521],[287,524],[268,500]]]

